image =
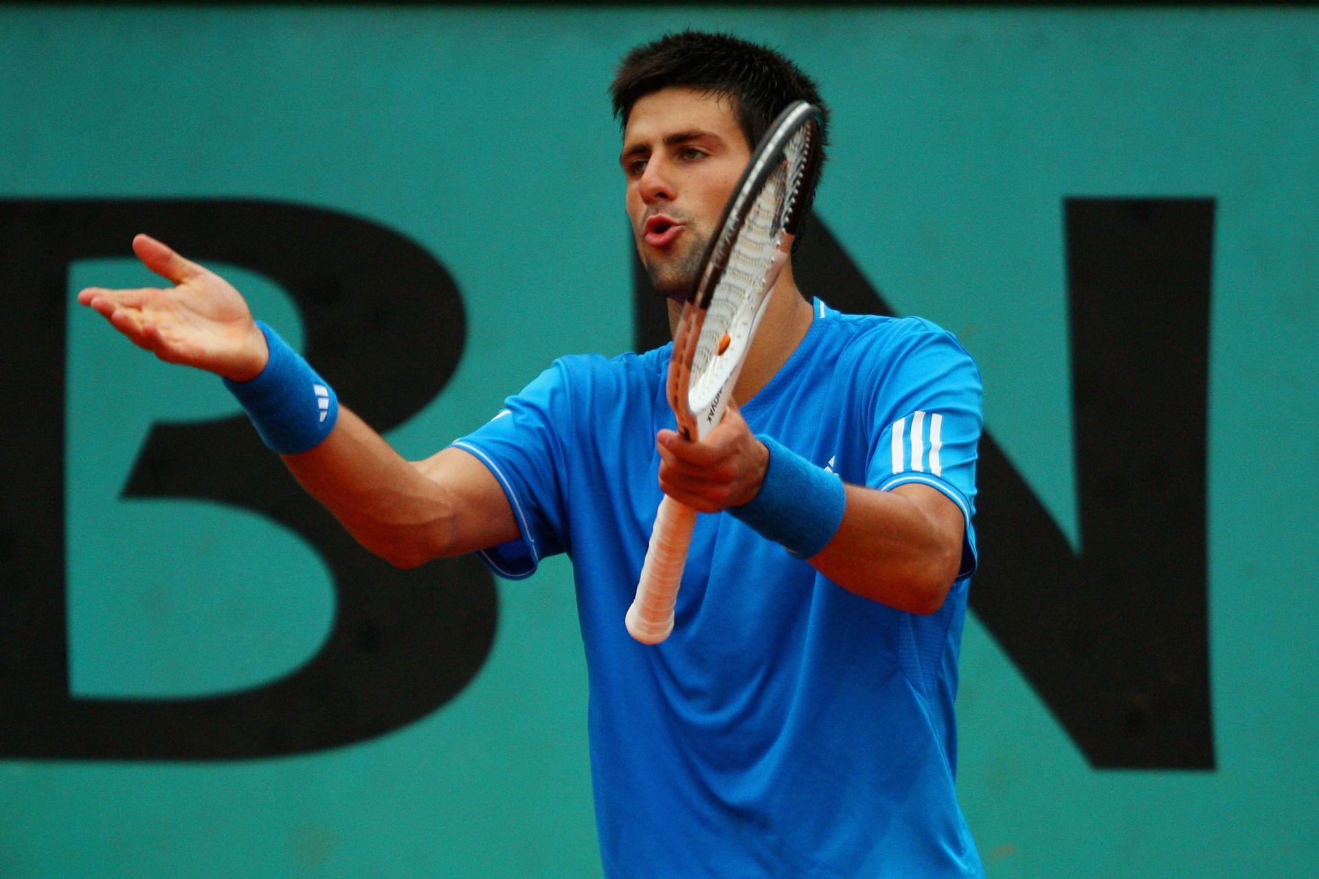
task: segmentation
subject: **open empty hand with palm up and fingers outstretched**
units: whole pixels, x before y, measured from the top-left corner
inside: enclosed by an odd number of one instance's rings
[[[78,294],[78,302],[166,362],[197,366],[233,381],[248,381],[265,369],[265,336],[230,282],[146,235],[133,239],[133,253],[175,286],[87,287]]]

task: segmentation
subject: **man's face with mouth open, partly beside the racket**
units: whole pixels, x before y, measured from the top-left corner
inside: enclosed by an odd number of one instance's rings
[[[632,235],[658,293],[686,298],[749,159],[727,98],[673,87],[632,105],[619,161]]]

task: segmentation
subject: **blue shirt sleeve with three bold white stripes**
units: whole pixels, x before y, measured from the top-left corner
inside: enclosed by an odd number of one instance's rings
[[[962,510],[967,528],[959,577],[976,568],[976,448],[980,370],[948,332],[926,322],[881,358],[867,485],[888,492],[929,485]]]

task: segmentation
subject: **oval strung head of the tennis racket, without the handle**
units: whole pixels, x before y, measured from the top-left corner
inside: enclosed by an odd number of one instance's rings
[[[706,246],[669,364],[669,405],[690,438],[704,439],[728,407],[805,215],[819,127],[819,108],[806,101],[794,101],[776,117]]]

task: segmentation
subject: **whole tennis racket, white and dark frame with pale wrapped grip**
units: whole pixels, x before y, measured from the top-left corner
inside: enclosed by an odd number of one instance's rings
[[[700,441],[728,407],[774,282],[787,262],[814,177],[820,111],[795,101],[778,115],[733,188],[719,233],[682,307],[669,361],[669,405],[678,430]],[[673,608],[696,511],[665,496],[656,514],[628,631],[657,644],[673,631]]]

